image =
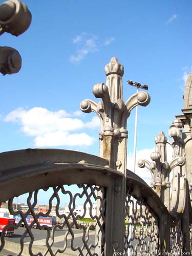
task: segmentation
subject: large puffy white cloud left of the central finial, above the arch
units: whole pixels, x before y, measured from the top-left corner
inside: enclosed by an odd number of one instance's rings
[[[65,110],[49,111],[45,108],[32,108],[24,110],[18,108],[10,112],[6,122],[18,122],[21,130],[27,136],[35,137],[35,146],[59,146],[59,145],[91,145],[94,139],[85,133],[70,134],[71,132],[99,127],[97,117],[89,122],[83,122],[73,116],[80,116],[80,112],[73,114]]]

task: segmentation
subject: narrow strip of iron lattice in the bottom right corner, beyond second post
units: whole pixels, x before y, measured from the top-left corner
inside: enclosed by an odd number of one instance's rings
[[[191,236],[191,232],[190,232]],[[183,232],[181,220],[175,223],[174,227],[170,228],[170,254],[182,255],[183,253]]]

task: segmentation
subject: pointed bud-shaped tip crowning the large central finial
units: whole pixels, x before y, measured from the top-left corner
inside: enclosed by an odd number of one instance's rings
[[[106,76],[111,74],[117,74],[123,76],[124,69],[123,66],[119,63],[119,60],[115,57],[111,58],[110,63],[105,66],[105,74]]]

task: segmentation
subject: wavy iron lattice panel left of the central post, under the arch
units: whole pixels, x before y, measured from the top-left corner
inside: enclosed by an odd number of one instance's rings
[[[13,200],[15,202],[16,199],[10,199],[8,202],[10,214],[15,217],[20,216],[20,220],[18,219],[15,226],[8,225],[3,229],[0,251],[7,248],[6,245],[11,241],[20,245],[16,252],[17,255],[22,255],[26,246],[30,255],[54,256],[63,252],[71,252],[74,255],[102,255],[104,253],[102,251],[104,251],[105,224],[104,191],[105,188],[85,184],[62,185],[49,188],[46,191],[40,189],[29,193],[27,207],[19,210],[14,209]],[[44,207],[44,212],[38,212],[38,200],[42,196],[49,198],[48,207],[46,210]],[[64,207],[65,210],[61,211],[61,206],[66,205],[66,202],[68,204]],[[96,207],[96,204],[99,205],[99,208]],[[51,215],[56,216],[52,219],[55,221],[54,225],[49,227],[48,224],[40,224],[39,220],[42,217]],[[91,219],[89,222],[82,221],[88,217]],[[22,225],[24,227],[20,227]],[[6,230],[9,227],[14,227],[14,234],[5,238]],[[101,248],[99,254],[95,253],[95,248],[98,245]]]

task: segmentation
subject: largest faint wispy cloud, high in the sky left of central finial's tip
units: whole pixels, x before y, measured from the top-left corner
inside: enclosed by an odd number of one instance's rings
[[[81,36],[77,36],[75,39],[73,39],[74,44],[79,41],[81,41],[82,44],[80,46],[78,45],[76,54],[70,56],[70,61],[78,63],[89,53],[97,51],[97,40],[97,35],[91,35],[88,37],[86,33],[83,33]]]

